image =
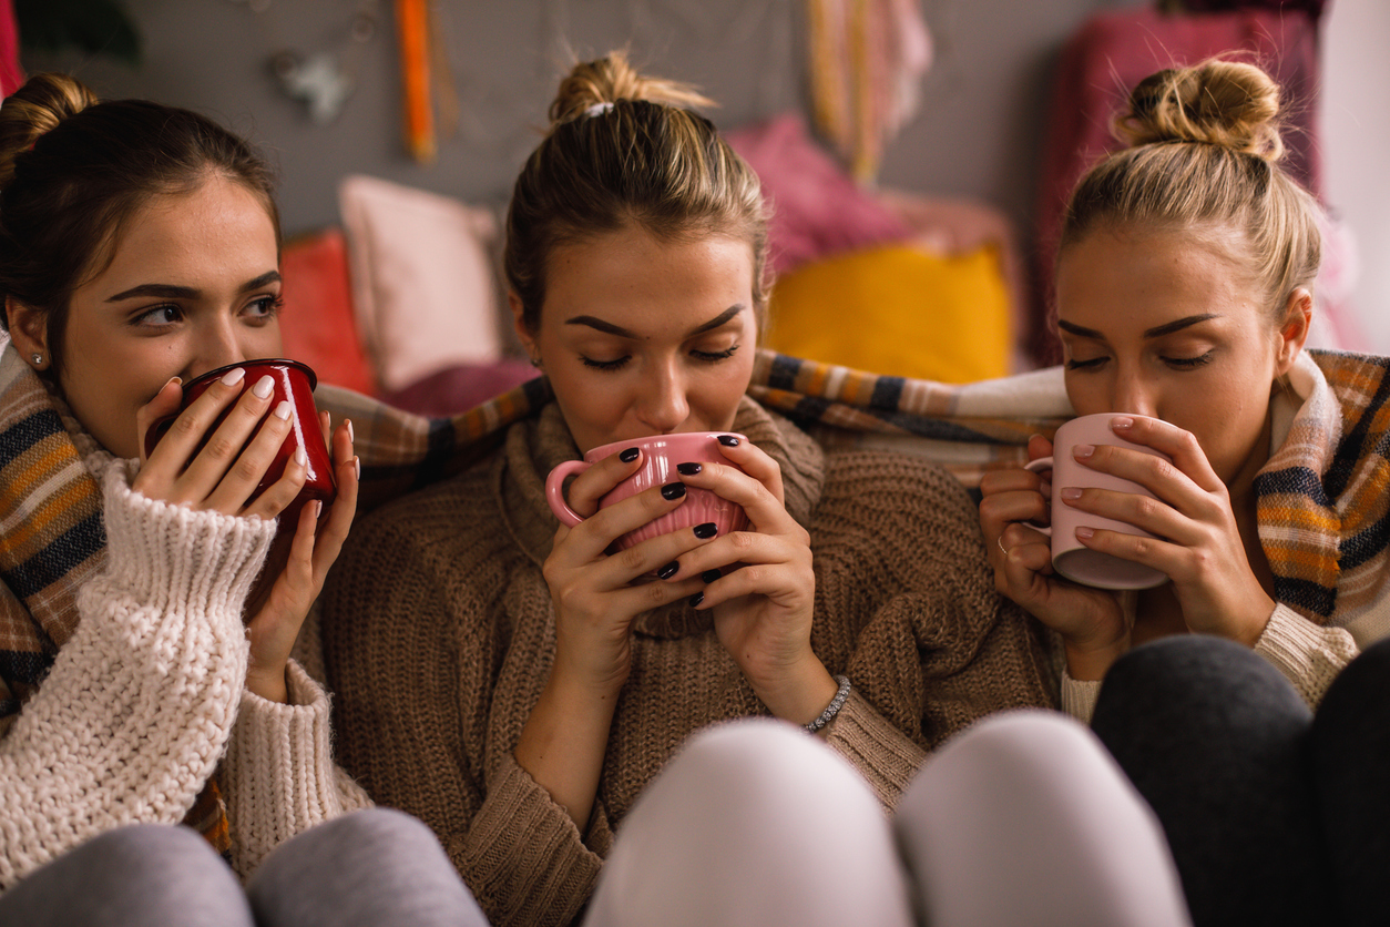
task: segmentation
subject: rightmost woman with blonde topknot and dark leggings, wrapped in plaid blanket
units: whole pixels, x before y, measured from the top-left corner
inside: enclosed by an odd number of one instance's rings
[[[1169,581],[1054,574],[1023,468],[986,477],[980,523],[998,588],[1063,645],[1063,707],[1163,821],[1195,923],[1383,923],[1390,360],[1305,349],[1319,206],[1279,165],[1282,106],[1252,64],[1154,74],[1063,214],[1068,397],[1172,463],[1077,448],[1156,502],[1061,504],[1156,535],[1076,530]]]

